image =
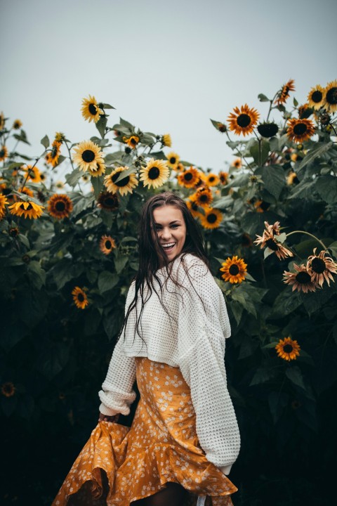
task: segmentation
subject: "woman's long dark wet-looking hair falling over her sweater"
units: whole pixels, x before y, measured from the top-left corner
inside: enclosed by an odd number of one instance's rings
[[[121,336],[123,331],[125,336],[125,329],[128,323],[128,317],[131,311],[133,311],[133,309],[136,308],[135,337],[137,332],[137,334],[143,339],[140,321],[143,309],[146,301],[150,298],[152,291],[158,294],[157,288],[154,286],[154,280],[157,282],[157,285],[159,285],[160,291],[162,291],[163,289],[161,280],[157,275],[157,271],[159,268],[166,269],[167,273],[166,281],[168,279],[171,279],[174,285],[180,286],[178,280],[176,280],[172,276],[173,261],[169,261],[168,258],[166,257],[164,249],[162,249],[160,245],[158,235],[155,232],[156,228],[153,217],[154,209],[166,205],[171,205],[176,207],[177,209],[180,209],[180,211],[183,214],[183,219],[185,221],[186,226],[186,238],[185,243],[183,245],[183,249],[180,253],[182,255],[182,259],[185,256],[185,254],[190,253],[193,254],[195,257],[198,257],[199,259],[204,261],[206,266],[209,266],[209,261],[206,257],[206,252],[204,248],[204,240],[202,238],[199,225],[197,221],[195,221],[195,219],[193,218],[190,209],[188,209],[185,201],[180,197],[178,197],[178,195],[176,195],[173,192],[159,193],[158,195],[150,197],[150,199],[148,199],[145,202],[145,205],[143,206],[140,215],[139,233],[138,233],[139,267],[138,273],[136,274],[135,278],[135,296],[133,297],[133,300],[128,306],[126,315],[124,317],[124,322],[118,337]],[[188,271],[186,271],[186,273],[188,275]],[[148,291],[145,290],[146,287]],[[146,298],[145,292],[147,293]],[[137,311],[138,297],[140,297],[142,301],[139,315]],[[159,297],[159,300],[161,301],[161,297]],[[161,305],[164,307],[166,313],[168,313],[162,301]]]

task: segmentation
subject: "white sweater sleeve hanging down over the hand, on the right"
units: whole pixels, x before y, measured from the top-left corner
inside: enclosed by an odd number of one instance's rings
[[[227,390],[224,354],[230,325],[225,301],[200,261],[188,268],[182,285],[179,366],[191,389],[201,448],[210,462],[228,474],[239,454],[240,436]]]

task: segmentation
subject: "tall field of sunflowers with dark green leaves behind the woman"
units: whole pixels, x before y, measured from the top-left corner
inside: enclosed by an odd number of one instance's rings
[[[331,505],[337,80],[308,86],[300,103],[295,91],[290,80],[260,93],[259,110],[211,119],[234,155],[221,171],[183,160],[169,134],[94,96],[81,107],[93,136],[44,136],[35,158],[22,153],[20,119],[1,112],[1,504],[51,504],[95,427],[138,268],[140,209],[173,190],[200,223],[232,324],[234,505]]]

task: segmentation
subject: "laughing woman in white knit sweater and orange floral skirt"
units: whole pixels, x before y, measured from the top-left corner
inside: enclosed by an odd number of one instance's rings
[[[230,325],[207,265],[185,202],[170,192],[147,200],[99,424],[53,505],[232,505],[237,488],[225,475],[240,441],[224,365]],[[135,380],[128,429],[117,421]]]

